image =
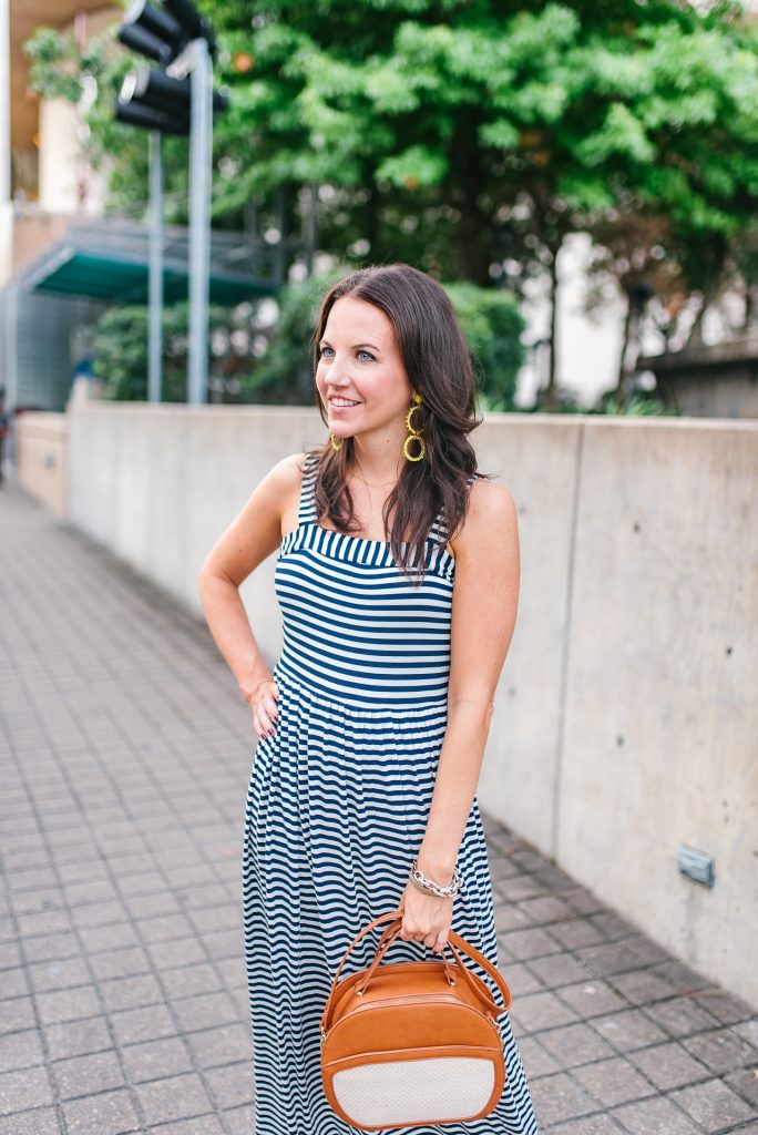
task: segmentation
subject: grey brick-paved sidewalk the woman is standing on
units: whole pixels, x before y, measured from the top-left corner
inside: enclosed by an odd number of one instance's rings
[[[201,623],[8,482],[0,531],[0,1135],[251,1135],[247,712]],[[758,1135],[758,1017],[487,830],[542,1129]]]

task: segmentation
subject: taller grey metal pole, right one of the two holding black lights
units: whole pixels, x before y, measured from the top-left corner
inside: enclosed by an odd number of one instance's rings
[[[213,64],[203,39],[193,43],[189,121],[189,359],[187,403],[208,401],[208,288],[210,277]]]

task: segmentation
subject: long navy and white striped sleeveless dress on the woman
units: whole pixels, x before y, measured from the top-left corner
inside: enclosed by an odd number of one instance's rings
[[[297,527],[278,552],[279,716],[275,735],[258,741],[245,808],[254,1135],[360,1130],[323,1092],[319,1022],[348,944],[403,894],[424,835],[447,716],[455,561],[441,516],[427,540],[424,582],[412,585],[387,541],[317,524],[317,465],[318,454],[309,454]],[[453,930],[497,966],[478,797],[457,867]],[[340,976],[370,965],[382,928],[359,942]],[[429,957],[419,942],[396,939],[387,961]],[[477,962],[465,961],[491,987]],[[478,1121],[405,1128],[410,1135],[538,1135],[508,1014],[497,1024],[506,1083],[495,1109]]]

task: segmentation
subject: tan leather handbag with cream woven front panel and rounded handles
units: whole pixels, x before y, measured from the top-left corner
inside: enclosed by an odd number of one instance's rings
[[[368,969],[339,981],[353,947],[391,919]],[[496,1018],[511,991],[487,958],[455,931],[455,958],[380,966],[403,927],[403,911],[368,923],[337,967],[321,1015],[321,1079],[346,1123],[364,1130],[481,1119],[505,1084],[505,1057]],[[466,953],[495,981],[498,1004],[463,961]]]

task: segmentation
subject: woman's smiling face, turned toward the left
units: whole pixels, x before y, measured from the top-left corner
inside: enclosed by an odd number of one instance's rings
[[[415,392],[384,311],[352,296],[337,300],[319,344],[315,385],[335,437],[405,428]]]

